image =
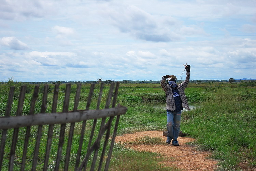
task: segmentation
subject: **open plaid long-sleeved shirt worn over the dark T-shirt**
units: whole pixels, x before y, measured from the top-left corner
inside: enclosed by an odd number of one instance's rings
[[[181,84],[178,85],[178,90],[179,90],[179,94],[181,97],[181,102],[182,102],[182,107],[189,110],[189,105],[187,102],[187,97],[185,96],[185,88],[187,87],[188,83],[189,83],[189,78],[190,78],[190,72],[187,72],[187,77],[185,79],[185,81],[183,81]],[[163,88],[163,90],[165,91],[165,96],[166,96],[166,109],[174,111],[176,109],[176,105],[175,105],[175,100],[173,97],[173,93],[172,93],[172,88],[169,84],[166,84],[166,78],[162,78],[161,80],[161,86]]]

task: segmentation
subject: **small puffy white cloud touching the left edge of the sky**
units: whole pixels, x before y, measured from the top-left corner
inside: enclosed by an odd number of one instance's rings
[[[13,50],[26,50],[29,49],[26,43],[18,40],[16,37],[3,37],[0,39],[2,46],[7,46]]]

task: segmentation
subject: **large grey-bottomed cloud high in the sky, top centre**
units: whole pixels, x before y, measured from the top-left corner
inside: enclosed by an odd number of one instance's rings
[[[112,24],[121,32],[146,41],[169,42],[178,36],[170,29],[176,24],[172,17],[153,16],[136,6],[109,6],[104,15],[110,17]]]

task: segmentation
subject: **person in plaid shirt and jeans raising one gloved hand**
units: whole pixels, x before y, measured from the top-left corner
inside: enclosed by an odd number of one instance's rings
[[[190,65],[186,65],[187,77],[181,84],[176,84],[177,77],[174,75],[165,75],[162,77],[161,86],[166,95],[166,115],[167,115],[167,140],[166,143],[179,146],[178,135],[181,124],[181,110],[183,108],[190,110],[184,89],[187,87],[190,78]],[[168,84],[166,84],[166,79]]]

